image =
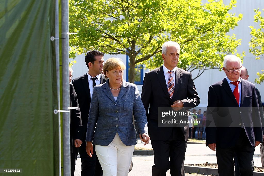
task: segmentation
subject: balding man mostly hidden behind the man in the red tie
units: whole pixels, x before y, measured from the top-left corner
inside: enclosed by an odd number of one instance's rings
[[[248,71],[246,69],[246,67],[242,66],[241,67],[241,74],[240,74],[240,78],[244,79],[244,80],[248,80]],[[260,107],[260,119],[261,119],[261,123],[262,123],[262,135],[264,135],[264,113],[263,113],[263,108],[262,108],[262,102],[261,102],[261,96],[260,96],[260,91],[256,88],[257,91],[257,98],[258,98],[258,106]],[[263,137],[262,137],[263,138]],[[262,144],[260,147],[263,147]],[[260,152],[262,153],[262,150],[260,150]],[[239,165],[238,165],[238,158],[236,153],[234,154],[234,164],[235,164],[235,176],[240,175],[239,172]]]

